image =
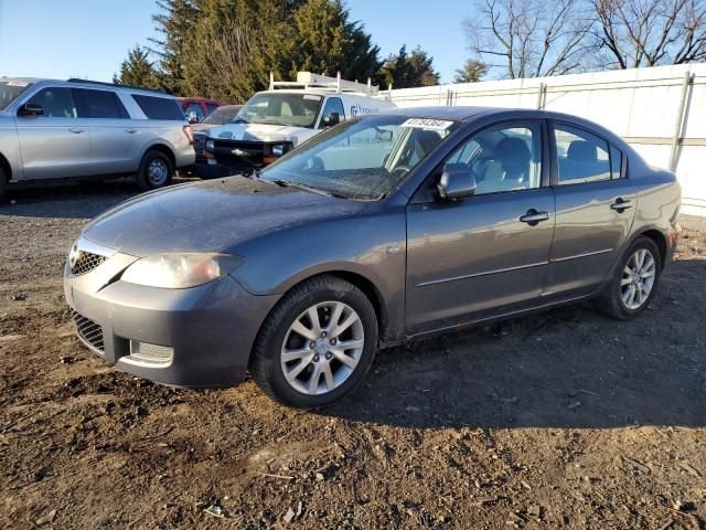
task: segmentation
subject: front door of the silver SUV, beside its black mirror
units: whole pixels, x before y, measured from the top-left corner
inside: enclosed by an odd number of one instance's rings
[[[89,124],[78,114],[74,91],[49,86],[24,103],[43,110],[41,116],[15,117],[24,179],[93,174]]]

